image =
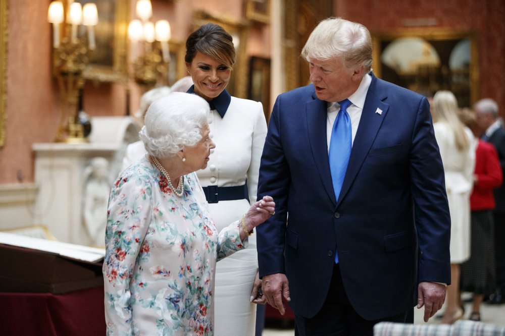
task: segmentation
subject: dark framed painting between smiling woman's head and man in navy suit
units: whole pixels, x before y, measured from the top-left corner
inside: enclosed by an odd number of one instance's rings
[[[270,59],[252,56],[249,62],[249,92],[247,98],[261,101],[265,119],[270,119]]]

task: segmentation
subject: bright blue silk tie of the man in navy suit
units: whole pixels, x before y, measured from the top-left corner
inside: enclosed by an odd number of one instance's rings
[[[352,147],[352,128],[350,118],[347,114],[347,107],[350,105],[348,99],[338,101],[340,111],[333,123],[330,138],[330,149],[328,160],[330,163],[331,180],[335,199],[338,200],[342,183],[344,181],[347,164],[349,163],[350,150]],[[338,254],[335,251],[335,263],[338,263]]]

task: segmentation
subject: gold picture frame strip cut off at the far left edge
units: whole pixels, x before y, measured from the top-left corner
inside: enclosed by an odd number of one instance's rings
[[[7,1],[0,1],[0,148],[5,144],[7,104],[7,45],[9,12]]]

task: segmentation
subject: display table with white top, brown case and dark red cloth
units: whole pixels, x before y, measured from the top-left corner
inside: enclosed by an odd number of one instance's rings
[[[105,335],[104,255],[0,233],[0,335]]]

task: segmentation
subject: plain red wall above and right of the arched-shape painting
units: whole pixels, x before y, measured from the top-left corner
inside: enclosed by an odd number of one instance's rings
[[[365,25],[371,33],[405,29],[404,20],[435,19],[427,28],[478,33],[480,98],[493,98],[505,117],[505,1],[335,0],[335,16]]]

